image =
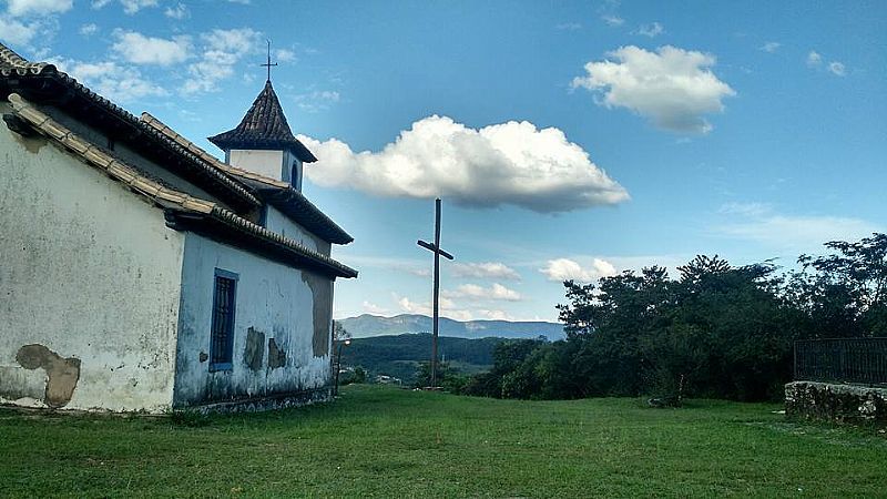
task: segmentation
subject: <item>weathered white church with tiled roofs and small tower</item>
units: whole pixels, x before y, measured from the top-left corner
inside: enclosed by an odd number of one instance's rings
[[[0,44],[0,404],[161,413],[330,397],[351,237],[271,81],[218,161]]]

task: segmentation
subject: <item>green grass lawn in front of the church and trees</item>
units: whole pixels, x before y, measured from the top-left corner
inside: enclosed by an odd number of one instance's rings
[[[778,405],[341,394],[200,427],[0,410],[0,496],[887,496],[884,434]]]

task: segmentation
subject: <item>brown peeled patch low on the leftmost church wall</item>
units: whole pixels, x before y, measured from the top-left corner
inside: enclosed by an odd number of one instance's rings
[[[16,354],[16,361],[26,369],[43,369],[47,371],[47,391],[44,403],[55,409],[71,401],[80,379],[80,359],[63,358],[43,345],[24,345]]]

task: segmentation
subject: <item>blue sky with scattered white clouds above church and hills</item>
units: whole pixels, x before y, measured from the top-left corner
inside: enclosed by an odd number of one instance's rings
[[[8,0],[0,39],[207,151],[265,40],[305,192],[356,238],[336,316],[554,319],[560,281],[791,266],[885,231],[887,3]]]

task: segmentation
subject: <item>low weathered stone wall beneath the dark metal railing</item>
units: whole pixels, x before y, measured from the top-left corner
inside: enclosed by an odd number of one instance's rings
[[[802,419],[887,425],[887,388],[794,381],[785,385],[785,414]]]

